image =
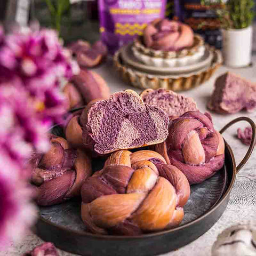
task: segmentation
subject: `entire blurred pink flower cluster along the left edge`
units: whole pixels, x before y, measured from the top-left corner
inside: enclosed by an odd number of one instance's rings
[[[33,208],[27,162],[49,147],[47,130],[66,109],[60,81],[78,71],[54,30],[5,35],[0,27],[0,244],[15,219],[15,234],[33,219],[24,214]]]

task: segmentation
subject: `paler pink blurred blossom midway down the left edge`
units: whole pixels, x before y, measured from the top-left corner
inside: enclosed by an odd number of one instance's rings
[[[31,103],[23,87],[0,86],[0,146],[20,166],[33,149],[44,152],[49,147],[47,130],[51,122]]]

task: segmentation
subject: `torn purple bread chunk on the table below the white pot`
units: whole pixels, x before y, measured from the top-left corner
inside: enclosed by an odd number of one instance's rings
[[[217,113],[233,114],[256,108],[256,84],[227,72],[215,81],[215,89],[207,107]]]

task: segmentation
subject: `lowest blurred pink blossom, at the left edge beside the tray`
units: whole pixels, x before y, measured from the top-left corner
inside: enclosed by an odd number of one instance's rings
[[[0,246],[22,237],[23,231],[36,219],[31,204],[32,190],[21,179],[17,166],[0,151]]]

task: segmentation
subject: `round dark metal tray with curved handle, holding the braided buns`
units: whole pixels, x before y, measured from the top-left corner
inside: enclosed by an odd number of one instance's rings
[[[220,131],[225,131],[238,121],[247,121],[253,128],[253,138],[243,161],[236,167],[231,148],[225,141],[225,165],[212,178],[191,186],[191,196],[185,206],[181,225],[170,230],[139,236],[95,235],[87,232],[80,217],[81,199],[40,207],[36,233],[45,241],[53,242],[62,250],[81,255],[157,255],[176,250],[203,235],[225,211],[233,188],[236,173],[249,159],[255,146],[256,127],[248,117],[239,117]],[[61,135],[55,127],[53,133]],[[100,170],[102,162],[93,162]]]

